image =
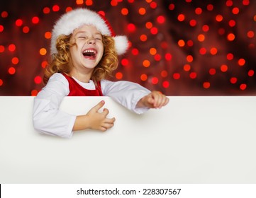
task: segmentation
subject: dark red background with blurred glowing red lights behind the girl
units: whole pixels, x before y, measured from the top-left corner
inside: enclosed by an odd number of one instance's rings
[[[43,88],[52,26],[72,8],[104,13],[130,40],[111,80],[166,95],[255,95],[256,1],[1,1],[0,95]]]

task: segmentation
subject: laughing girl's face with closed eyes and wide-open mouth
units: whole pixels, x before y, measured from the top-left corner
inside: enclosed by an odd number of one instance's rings
[[[71,40],[76,44],[70,47],[73,73],[91,74],[104,52],[101,33],[93,25],[83,25],[74,30]]]

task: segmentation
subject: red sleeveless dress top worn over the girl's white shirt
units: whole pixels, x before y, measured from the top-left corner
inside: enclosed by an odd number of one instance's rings
[[[95,90],[89,90],[83,88],[82,86],[74,80],[74,78],[67,76],[66,74],[62,74],[65,76],[67,81],[69,82],[69,95],[68,96],[104,96],[101,91],[101,82],[97,81],[97,86],[95,85]]]

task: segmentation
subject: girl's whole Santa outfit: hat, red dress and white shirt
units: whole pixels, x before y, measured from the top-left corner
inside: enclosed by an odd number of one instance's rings
[[[59,35],[70,35],[82,25],[94,25],[101,35],[113,37],[115,50],[118,55],[128,49],[128,39],[123,35],[115,35],[104,16],[87,8],[77,8],[65,13],[54,25],[50,45],[50,54],[56,54],[56,40]],[[35,129],[43,134],[62,137],[71,137],[76,115],[59,110],[63,98],[68,95],[110,96],[136,113],[143,113],[148,108],[136,108],[140,98],[148,95],[150,91],[137,83],[128,81],[111,82],[101,80],[98,86],[93,81],[82,83],[65,74],[53,74],[47,85],[35,97],[33,107],[33,124]]]

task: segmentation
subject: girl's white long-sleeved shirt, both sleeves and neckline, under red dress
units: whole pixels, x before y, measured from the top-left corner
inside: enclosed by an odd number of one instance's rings
[[[75,78],[74,78],[75,79]],[[93,81],[83,83],[75,79],[83,88],[94,90]],[[101,81],[101,91],[124,107],[135,113],[143,113],[148,108],[136,108],[140,98],[148,95],[150,91],[138,83],[129,81]],[[38,132],[55,136],[70,138],[77,115],[59,110],[63,98],[69,94],[69,83],[65,76],[53,74],[47,85],[38,93],[33,106],[33,124]]]

